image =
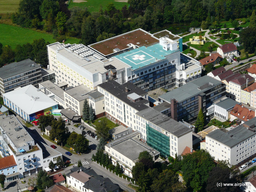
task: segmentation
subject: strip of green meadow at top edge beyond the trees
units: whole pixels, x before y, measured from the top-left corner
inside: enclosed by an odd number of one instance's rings
[[[80,3],[76,3],[73,0],[70,0],[70,2],[68,4],[68,8],[72,8],[74,6],[87,7],[88,11],[90,11],[90,12],[98,12],[100,10],[100,6],[102,6],[103,10],[105,10],[106,6],[111,2],[114,4],[116,9],[121,9],[124,5],[126,5],[128,7],[128,3],[117,2],[115,0],[87,0],[84,2],[80,2]]]

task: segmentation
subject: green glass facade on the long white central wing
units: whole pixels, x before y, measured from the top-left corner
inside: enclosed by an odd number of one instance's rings
[[[162,156],[170,156],[170,138],[146,124],[147,144]]]

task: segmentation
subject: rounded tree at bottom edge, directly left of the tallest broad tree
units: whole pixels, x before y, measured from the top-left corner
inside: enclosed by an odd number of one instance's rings
[[[179,181],[178,174],[172,170],[164,170],[151,185],[153,192],[185,192],[186,187]]]

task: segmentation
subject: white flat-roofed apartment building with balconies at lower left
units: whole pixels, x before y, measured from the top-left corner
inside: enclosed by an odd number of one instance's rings
[[[0,115],[0,144],[2,156],[13,156],[19,178],[38,173],[51,160],[56,163],[57,157],[62,157],[49,146],[36,143],[14,115]]]

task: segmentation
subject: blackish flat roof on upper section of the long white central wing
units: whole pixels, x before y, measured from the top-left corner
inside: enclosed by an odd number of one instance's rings
[[[147,92],[145,92],[144,90],[142,90],[141,88],[137,87],[136,85],[130,82],[126,82],[120,85],[118,82],[111,80],[109,82],[102,83],[98,86],[106,90],[107,92],[110,92],[112,95],[120,99],[122,102],[128,104],[129,106],[131,106],[132,108],[138,111],[149,108],[148,106],[145,105],[145,104],[148,104],[149,102],[146,99],[142,99],[137,102],[132,102],[127,98],[127,95],[132,93],[136,93],[140,96],[144,96],[147,94]],[[126,88],[129,90],[128,92],[125,92]]]

